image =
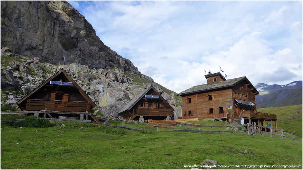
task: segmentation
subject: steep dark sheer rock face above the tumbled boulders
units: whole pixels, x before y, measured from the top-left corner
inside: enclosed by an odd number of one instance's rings
[[[1,1],[1,49],[47,63],[116,67],[143,77],[128,59],[107,47],[92,25],[66,1]],[[113,76],[111,72],[109,76]],[[111,79],[116,79],[112,77]]]

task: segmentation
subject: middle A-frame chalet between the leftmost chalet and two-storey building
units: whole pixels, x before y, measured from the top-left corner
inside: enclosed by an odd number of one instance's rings
[[[168,116],[173,116],[174,109],[151,85],[138,93],[118,114],[128,120],[138,119],[140,116],[145,120],[164,120]]]

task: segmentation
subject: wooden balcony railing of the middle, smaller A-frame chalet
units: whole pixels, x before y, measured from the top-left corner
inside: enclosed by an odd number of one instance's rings
[[[149,108],[149,107],[137,107],[135,115],[138,116],[171,116],[174,114],[173,108]]]

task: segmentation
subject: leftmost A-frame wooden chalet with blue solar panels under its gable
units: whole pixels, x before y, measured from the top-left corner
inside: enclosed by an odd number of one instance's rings
[[[17,102],[22,111],[91,112],[96,106],[82,88],[61,69]]]

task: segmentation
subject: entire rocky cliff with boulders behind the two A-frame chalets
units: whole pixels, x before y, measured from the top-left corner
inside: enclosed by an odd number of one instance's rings
[[[65,1],[1,1],[1,35],[1,104],[15,104],[61,69],[64,57],[65,70],[104,115],[115,114],[154,83],[105,46]],[[176,93],[155,87],[178,110]]]

